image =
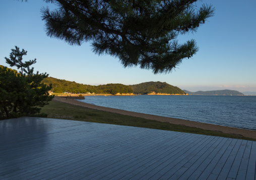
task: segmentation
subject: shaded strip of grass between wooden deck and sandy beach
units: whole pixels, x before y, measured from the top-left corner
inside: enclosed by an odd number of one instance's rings
[[[241,137],[237,135],[209,131],[209,130],[204,130],[204,129],[195,128],[195,127],[170,124],[166,122],[159,122],[159,121],[154,121],[154,120],[149,120],[144,118],[138,118],[138,117],[132,117],[132,116],[127,116],[127,115],[122,115],[117,113],[89,109],[85,107],[75,106],[75,105],[56,102],[56,101],[51,101],[49,105],[44,106],[41,112],[48,114],[47,116],[48,118],[70,119],[70,120],[77,120],[77,121],[136,126],[136,127],[171,130],[171,131],[188,132],[188,133],[205,134],[205,135],[256,141],[256,139],[252,139],[252,138],[246,138],[246,137]]]

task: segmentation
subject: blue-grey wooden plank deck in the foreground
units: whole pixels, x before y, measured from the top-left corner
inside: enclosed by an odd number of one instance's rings
[[[256,142],[23,117],[0,121],[0,179],[255,179]]]

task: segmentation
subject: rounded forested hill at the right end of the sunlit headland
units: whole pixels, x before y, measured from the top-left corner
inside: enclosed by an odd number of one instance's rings
[[[135,94],[150,94],[152,92],[161,94],[185,94],[178,87],[167,84],[166,82],[151,81],[130,86],[133,88]]]

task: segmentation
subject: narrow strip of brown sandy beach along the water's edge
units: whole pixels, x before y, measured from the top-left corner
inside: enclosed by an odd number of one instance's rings
[[[91,109],[97,109],[97,110],[101,110],[101,111],[129,115],[129,116],[133,116],[133,117],[141,117],[141,118],[157,120],[157,121],[161,121],[161,122],[169,122],[172,124],[179,124],[179,125],[185,125],[185,126],[190,126],[190,127],[198,127],[198,128],[202,128],[205,130],[219,131],[219,132],[224,132],[224,133],[228,133],[228,134],[236,134],[236,135],[256,139],[256,131],[253,131],[253,130],[239,129],[239,128],[234,128],[234,127],[220,126],[220,125],[194,122],[194,121],[183,120],[183,119],[143,114],[143,113],[125,111],[125,110],[120,110],[120,109],[113,109],[113,108],[96,106],[93,104],[87,104],[87,103],[80,102],[77,100],[65,99],[65,98],[60,98],[60,97],[54,97],[53,100],[58,101],[58,102],[72,104],[72,105],[87,107],[87,108],[91,108]]]

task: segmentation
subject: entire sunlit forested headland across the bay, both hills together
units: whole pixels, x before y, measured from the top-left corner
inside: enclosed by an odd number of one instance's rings
[[[166,82],[145,82],[136,85],[123,84],[105,84],[105,85],[86,85],[79,84],[75,81],[66,81],[48,77],[43,80],[45,84],[52,84],[52,92],[54,93],[73,93],[73,94],[112,94],[112,95],[187,95],[184,91],[176,86],[167,84]]]

